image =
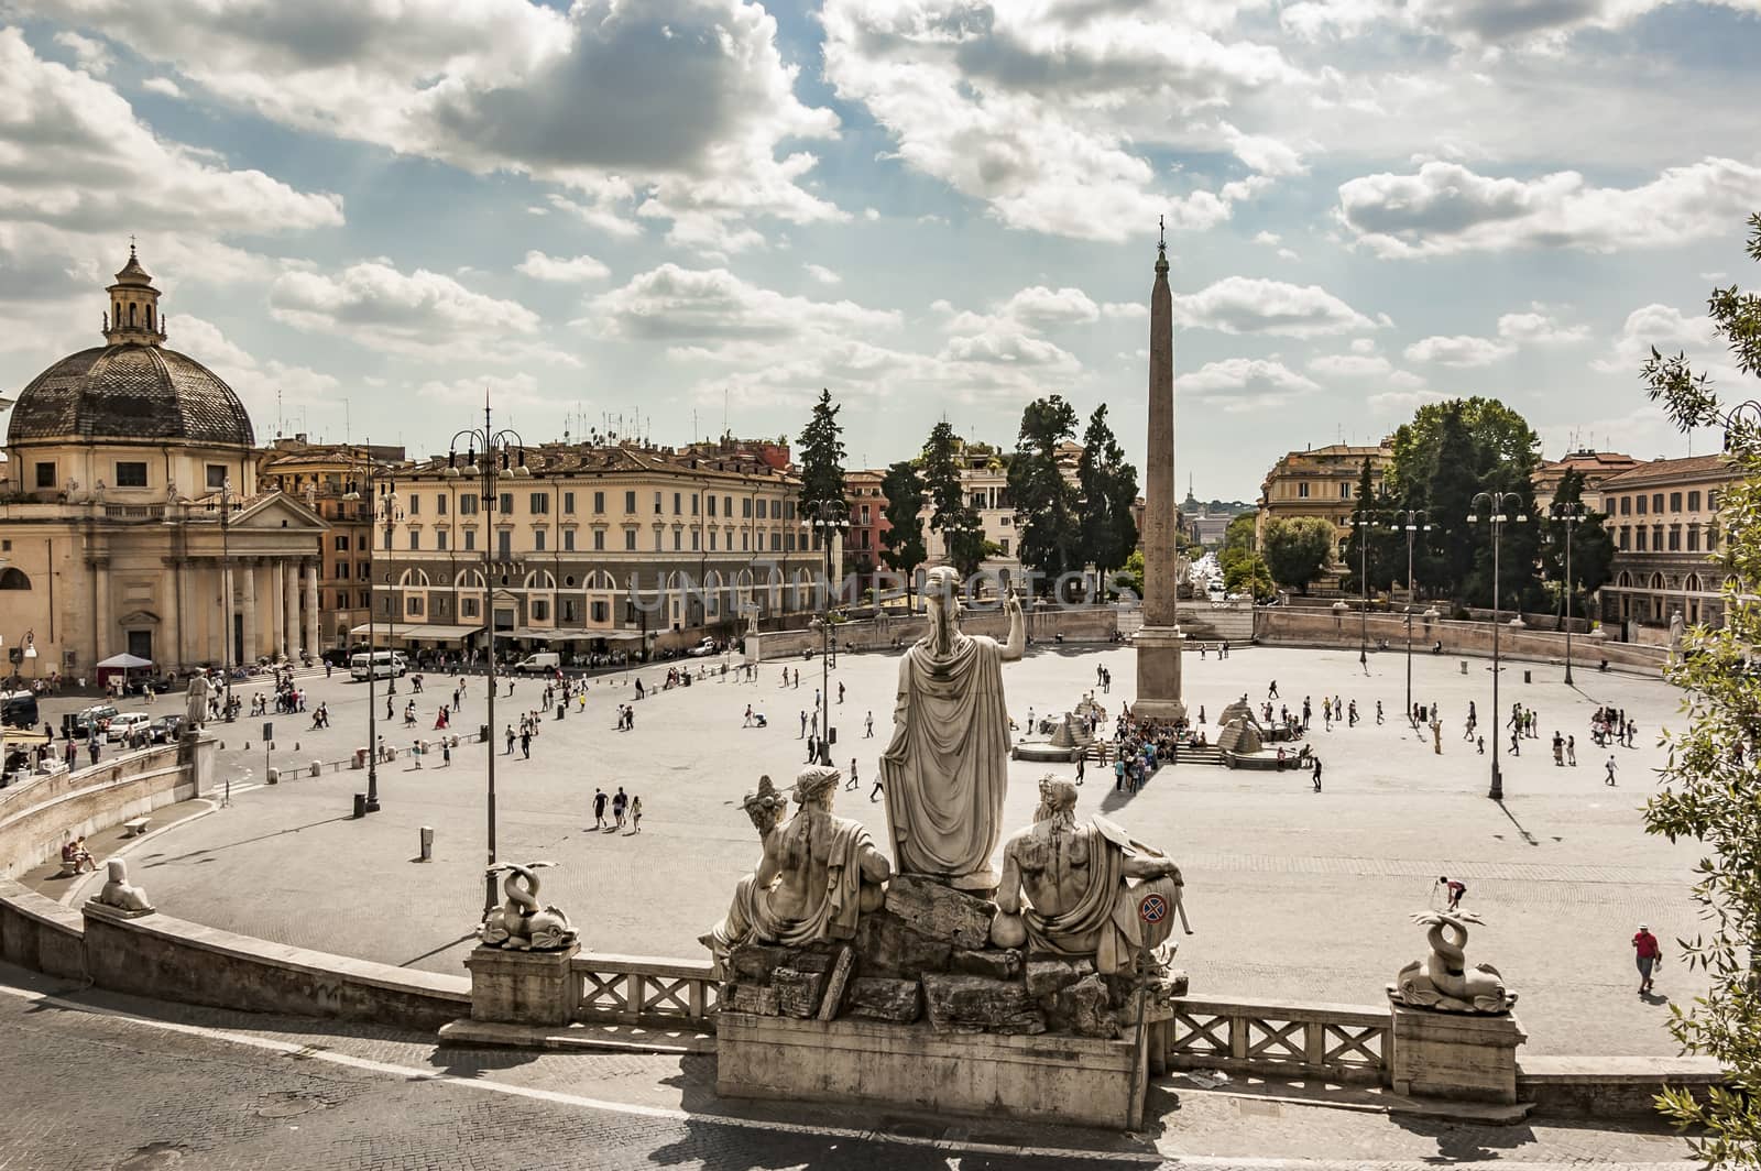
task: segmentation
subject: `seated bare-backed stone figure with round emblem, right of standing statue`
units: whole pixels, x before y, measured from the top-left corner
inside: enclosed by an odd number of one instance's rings
[[[1102,976],[1131,972],[1139,951],[1168,940],[1176,914],[1185,921],[1182,893],[1171,858],[1104,817],[1078,824],[1076,785],[1046,777],[1034,824],[1004,843],[991,942],[1090,958]],[[1139,916],[1150,895],[1160,895],[1153,921]]]

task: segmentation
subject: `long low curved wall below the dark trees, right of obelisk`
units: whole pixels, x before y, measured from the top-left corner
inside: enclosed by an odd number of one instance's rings
[[[1254,616],[1254,637],[1271,646],[1342,646],[1356,648],[1359,643],[1359,615],[1345,611],[1315,611],[1307,608],[1263,608]],[[1407,627],[1405,615],[1368,616],[1370,646],[1379,639],[1388,639],[1388,652],[1405,653]],[[1442,643],[1444,655],[1492,657],[1492,623],[1453,622],[1414,618],[1412,653],[1430,653],[1432,643]],[[1499,630],[1499,653],[1507,659],[1530,662],[1566,662],[1566,636],[1551,630],[1530,630],[1525,627],[1502,627]],[[1571,662],[1576,671],[1595,671],[1599,660],[1606,659],[1611,667],[1624,671],[1661,671],[1664,652],[1652,646],[1634,646],[1590,636],[1573,636]]]

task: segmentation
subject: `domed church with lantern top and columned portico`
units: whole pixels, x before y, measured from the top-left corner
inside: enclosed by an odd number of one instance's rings
[[[7,417],[0,637],[37,652],[25,678],[93,678],[120,653],[183,671],[315,646],[324,521],[259,488],[245,407],[166,347],[132,248],[106,294],[104,345],[49,366]]]

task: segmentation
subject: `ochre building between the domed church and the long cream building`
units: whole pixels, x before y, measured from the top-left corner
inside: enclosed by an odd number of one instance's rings
[[[259,451],[257,482],[306,505],[329,525],[319,556],[319,646],[345,650],[349,632],[366,622],[373,539],[368,475],[405,467],[403,447],[308,444],[305,435],[278,438]]]

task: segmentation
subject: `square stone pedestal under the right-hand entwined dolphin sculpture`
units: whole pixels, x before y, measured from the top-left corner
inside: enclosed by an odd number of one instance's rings
[[[1529,1039],[1511,1013],[1476,1016],[1388,1005],[1389,1086],[1400,1095],[1516,1102],[1516,1046]]]

